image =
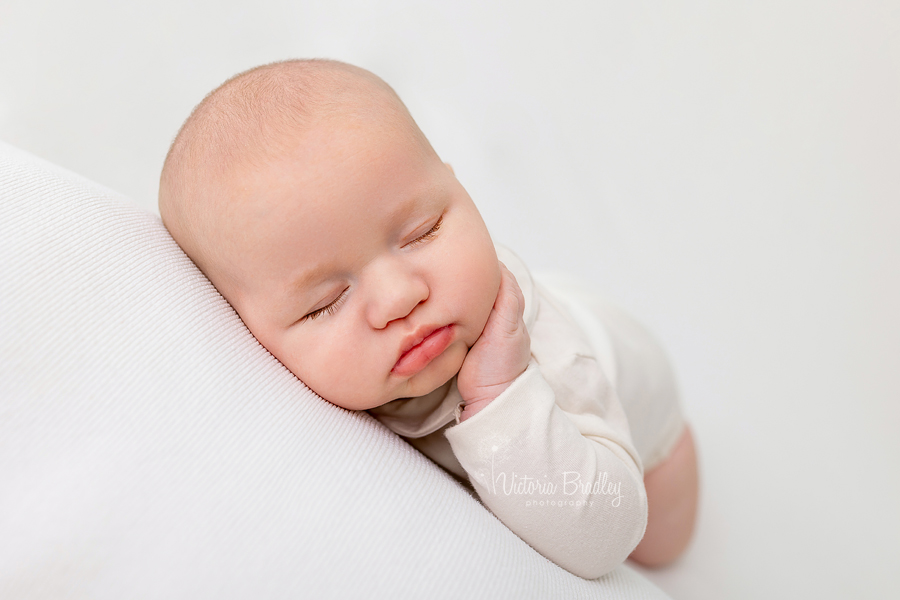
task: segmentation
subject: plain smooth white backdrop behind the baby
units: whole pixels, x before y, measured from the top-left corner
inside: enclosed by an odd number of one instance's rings
[[[238,71],[393,85],[536,269],[656,331],[703,469],[675,598],[900,589],[900,10],[857,2],[2,0],[0,139],[156,210]]]

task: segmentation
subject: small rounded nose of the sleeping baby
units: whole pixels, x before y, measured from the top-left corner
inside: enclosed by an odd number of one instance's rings
[[[371,276],[368,319],[375,329],[384,329],[391,321],[406,318],[428,299],[425,279],[401,258],[384,261],[373,269]]]

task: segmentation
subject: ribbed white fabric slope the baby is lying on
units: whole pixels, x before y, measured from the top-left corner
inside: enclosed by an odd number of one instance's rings
[[[666,597],[541,557],[297,381],[157,217],[3,144],[0,260],[0,597]]]

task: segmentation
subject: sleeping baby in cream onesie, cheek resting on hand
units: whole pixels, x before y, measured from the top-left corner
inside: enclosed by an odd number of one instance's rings
[[[259,342],[585,578],[687,545],[697,464],[669,364],[620,310],[495,245],[395,92],[286,61],[225,82],[166,157],[172,236]]]

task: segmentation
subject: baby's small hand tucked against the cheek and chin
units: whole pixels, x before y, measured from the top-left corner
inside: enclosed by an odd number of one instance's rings
[[[506,265],[500,263],[500,291],[481,337],[469,349],[456,380],[466,403],[465,421],[491,403],[525,371],[531,338],[525,329],[525,296]]]

